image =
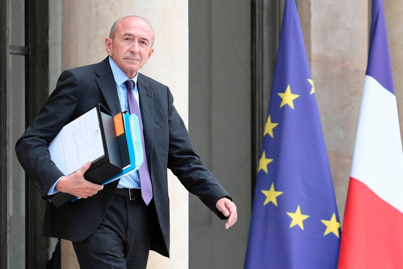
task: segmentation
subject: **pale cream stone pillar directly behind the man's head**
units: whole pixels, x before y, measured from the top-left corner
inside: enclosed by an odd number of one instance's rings
[[[113,22],[138,15],[155,31],[155,52],[141,73],[168,86],[175,106],[188,121],[188,4],[186,0],[65,0],[62,3],[62,70],[93,64],[106,56],[104,38]],[[171,213],[170,259],[151,252],[148,268],[188,267],[188,195],[179,181],[168,175]],[[62,268],[78,268],[74,251],[62,242]]]

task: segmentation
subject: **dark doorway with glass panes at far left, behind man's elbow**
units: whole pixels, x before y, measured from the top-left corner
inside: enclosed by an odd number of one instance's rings
[[[1,268],[44,268],[45,203],[14,145],[48,97],[48,0],[0,0]]]

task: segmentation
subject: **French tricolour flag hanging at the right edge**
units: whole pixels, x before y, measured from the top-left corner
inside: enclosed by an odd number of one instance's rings
[[[403,268],[403,151],[382,0],[372,1],[338,267]]]

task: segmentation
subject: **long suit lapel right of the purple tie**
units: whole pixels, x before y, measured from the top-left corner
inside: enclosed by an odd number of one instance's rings
[[[153,113],[153,90],[149,87],[148,81],[142,74],[137,78],[139,90],[140,111],[142,114],[144,143],[147,154],[147,162],[151,172],[151,164],[154,146],[154,113]]]

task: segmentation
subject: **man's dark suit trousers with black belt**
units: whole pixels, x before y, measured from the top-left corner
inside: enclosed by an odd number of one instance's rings
[[[153,220],[143,199],[115,195],[105,218],[84,241],[73,242],[80,267],[146,268]]]

